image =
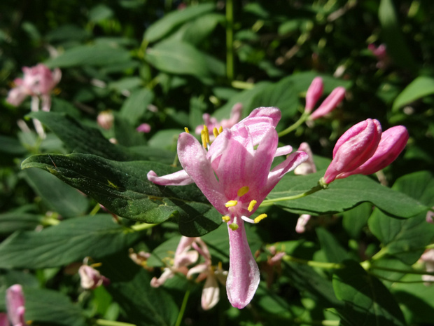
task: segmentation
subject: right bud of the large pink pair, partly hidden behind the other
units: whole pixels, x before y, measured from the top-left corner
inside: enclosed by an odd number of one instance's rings
[[[388,130],[382,133],[381,140],[374,155],[356,168],[356,170],[344,173],[342,177],[356,174],[372,175],[372,173],[386,168],[387,165],[395,161],[401,151],[405,148],[407,140],[408,131],[403,125],[396,125],[395,127],[388,128]]]

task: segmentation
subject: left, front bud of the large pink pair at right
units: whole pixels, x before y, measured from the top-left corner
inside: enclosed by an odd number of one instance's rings
[[[324,182],[329,184],[341,179],[365,163],[375,152],[381,139],[379,121],[367,119],[346,130],[333,149],[333,159],[324,175]]]

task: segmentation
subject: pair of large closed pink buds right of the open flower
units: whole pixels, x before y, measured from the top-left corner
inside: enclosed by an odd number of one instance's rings
[[[377,120],[367,119],[346,130],[333,149],[333,159],[324,175],[329,184],[350,175],[370,175],[395,161],[408,140],[402,125],[381,133]]]

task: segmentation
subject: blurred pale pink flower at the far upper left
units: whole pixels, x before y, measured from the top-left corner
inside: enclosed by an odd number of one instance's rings
[[[27,96],[40,96],[43,111],[50,111],[50,92],[62,78],[60,69],[51,72],[44,64],[37,64],[34,67],[23,67],[22,72],[23,78],[14,80],[16,86],[9,91],[6,101],[18,107]]]

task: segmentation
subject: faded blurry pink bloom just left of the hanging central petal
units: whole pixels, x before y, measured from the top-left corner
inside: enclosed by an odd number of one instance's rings
[[[160,278],[154,277],[151,280],[152,287],[160,287],[160,285],[163,285],[166,280],[173,278],[176,273],[187,275],[188,266],[197,262],[197,259],[199,258],[197,250],[192,249],[192,245],[196,239],[197,238],[188,238],[186,236],[181,237],[179,245],[176,247],[173,265],[165,267]]]

